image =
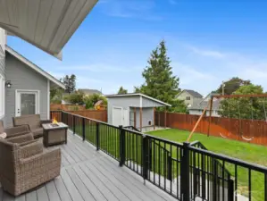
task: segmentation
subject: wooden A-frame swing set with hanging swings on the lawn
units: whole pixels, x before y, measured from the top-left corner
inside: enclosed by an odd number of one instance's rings
[[[194,132],[196,131],[196,128],[197,126],[199,125],[200,121],[202,121],[203,117],[205,116],[205,113],[209,110],[210,111],[210,114],[209,114],[209,119],[208,119],[208,131],[207,131],[207,136],[209,137],[210,136],[210,130],[211,130],[211,124],[212,124],[212,111],[213,111],[213,101],[214,101],[214,98],[237,98],[238,101],[237,101],[237,105],[238,105],[238,126],[239,126],[239,133],[240,133],[240,136],[242,139],[244,139],[245,141],[247,142],[250,142],[254,139],[254,136],[253,137],[246,137],[243,133],[243,128],[242,128],[242,116],[241,116],[241,112],[240,112],[240,102],[242,100],[242,98],[250,98],[250,110],[251,110],[251,118],[250,118],[250,129],[252,127],[254,127],[254,107],[253,107],[253,97],[263,97],[264,100],[262,101],[263,102],[263,111],[264,111],[264,119],[267,123],[267,112],[266,112],[266,107],[265,107],[265,104],[267,103],[267,94],[260,94],[260,95],[218,95],[218,96],[211,96],[211,99],[209,101],[209,104],[207,105],[206,108],[204,108],[204,111],[203,113],[201,114],[201,116],[198,118],[198,120],[196,121],[196,125],[194,126],[193,130],[191,131],[190,135],[188,136],[188,139],[187,141],[189,142],[190,141],[190,138],[192,138]],[[266,102],[266,103],[265,103]],[[218,120],[220,120],[221,118],[218,117]],[[228,105],[228,130],[229,130],[229,127],[230,127],[230,121],[231,121],[231,117],[230,117],[230,106]],[[254,128],[252,128],[254,129]],[[228,138],[227,136],[223,135],[221,132],[219,132],[219,135],[221,136],[221,138]],[[228,135],[230,135],[230,132],[228,133]]]

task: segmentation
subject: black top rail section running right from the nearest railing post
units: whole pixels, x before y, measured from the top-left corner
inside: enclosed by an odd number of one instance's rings
[[[253,171],[257,171],[257,172],[267,173],[267,167],[264,167],[263,165],[260,165],[260,164],[245,162],[245,161],[242,161],[238,158],[230,157],[227,155],[216,154],[216,153],[213,153],[211,151],[196,148],[196,147],[189,146],[189,149],[195,151],[196,153],[205,154],[205,155],[211,156],[215,159],[225,161],[227,163],[237,164],[239,166],[242,166],[244,168],[249,168],[249,169],[251,169]]]

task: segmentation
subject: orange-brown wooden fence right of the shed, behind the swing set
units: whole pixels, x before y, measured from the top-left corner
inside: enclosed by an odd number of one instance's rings
[[[155,124],[164,127],[166,121],[168,128],[191,131],[198,118],[198,115],[192,114],[166,113],[165,115],[163,112],[156,112]],[[205,116],[197,126],[196,132],[207,134],[208,127],[209,117]],[[212,117],[210,135],[267,146],[267,121]]]

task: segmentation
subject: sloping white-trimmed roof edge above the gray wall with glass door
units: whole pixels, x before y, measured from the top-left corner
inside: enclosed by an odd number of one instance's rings
[[[40,67],[38,67],[38,65],[30,62],[27,58],[25,58],[24,56],[22,56],[21,54],[19,54],[15,50],[13,50],[13,48],[11,48],[10,46],[5,46],[5,51],[7,53],[9,53],[9,54],[12,54],[14,57],[16,57],[18,60],[20,60],[21,63],[25,63],[27,66],[29,66],[29,68],[31,68],[34,71],[37,71],[39,74],[44,76],[46,79],[52,81],[54,84],[56,84],[60,88],[65,88],[65,86],[63,85],[62,82],[60,82],[59,80],[55,79],[48,72],[46,72],[43,69],[41,69]]]

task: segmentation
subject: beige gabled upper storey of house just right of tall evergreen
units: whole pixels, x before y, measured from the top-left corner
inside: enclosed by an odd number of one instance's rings
[[[200,103],[203,100],[203,96],[194,90],[184,89],[177,96],[179,100],[185,101],[188,108],[196,103]]]

